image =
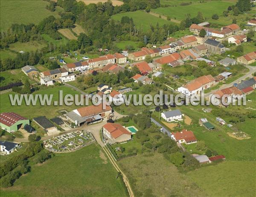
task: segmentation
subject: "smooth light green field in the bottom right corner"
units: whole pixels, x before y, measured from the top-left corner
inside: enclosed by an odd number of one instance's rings
[[[209,196],[255,196],[255,161],[225,161],[187,173]]]

